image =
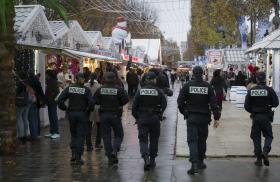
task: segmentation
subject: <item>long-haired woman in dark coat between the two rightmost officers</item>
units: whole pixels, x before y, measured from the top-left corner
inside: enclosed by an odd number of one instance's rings
[[[221,76],[221,70],[215,70],[213,73],[213,78],[210,82],[210,85],[213,87],[216,93],[216,98],[218,102],[218,106],[222,111],[223,100],[224,100],[224,92],[227,88],[225,79]]]

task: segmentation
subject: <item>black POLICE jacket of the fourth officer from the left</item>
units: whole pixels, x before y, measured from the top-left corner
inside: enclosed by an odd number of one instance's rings
[[[210,114],[212,110],[215,120],[221,117],[214,90],[202,78],[187,82],[180,91],[177,103],[183,115],[187,112]]]

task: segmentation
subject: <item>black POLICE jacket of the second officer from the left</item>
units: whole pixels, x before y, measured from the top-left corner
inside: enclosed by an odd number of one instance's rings
[[[100,105],[100,112],[122,112],[122,107],[128,103],[126,91],[116,84],[105,84],[94,94],[96,105]]]

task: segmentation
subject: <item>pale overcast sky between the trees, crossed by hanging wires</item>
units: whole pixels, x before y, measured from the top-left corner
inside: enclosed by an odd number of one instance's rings
[[[190,29],[190,0],[144,1],[156,9],[159,16],[157,26],[165,38],[171,38],[179,44],[187,40],[187,32]]]

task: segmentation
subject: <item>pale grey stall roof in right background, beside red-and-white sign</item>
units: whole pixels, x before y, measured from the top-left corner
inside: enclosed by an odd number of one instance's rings
[[[247,62],[248,59],[245,55],[245,49],[225,49],[224,61],[227,63]]]

